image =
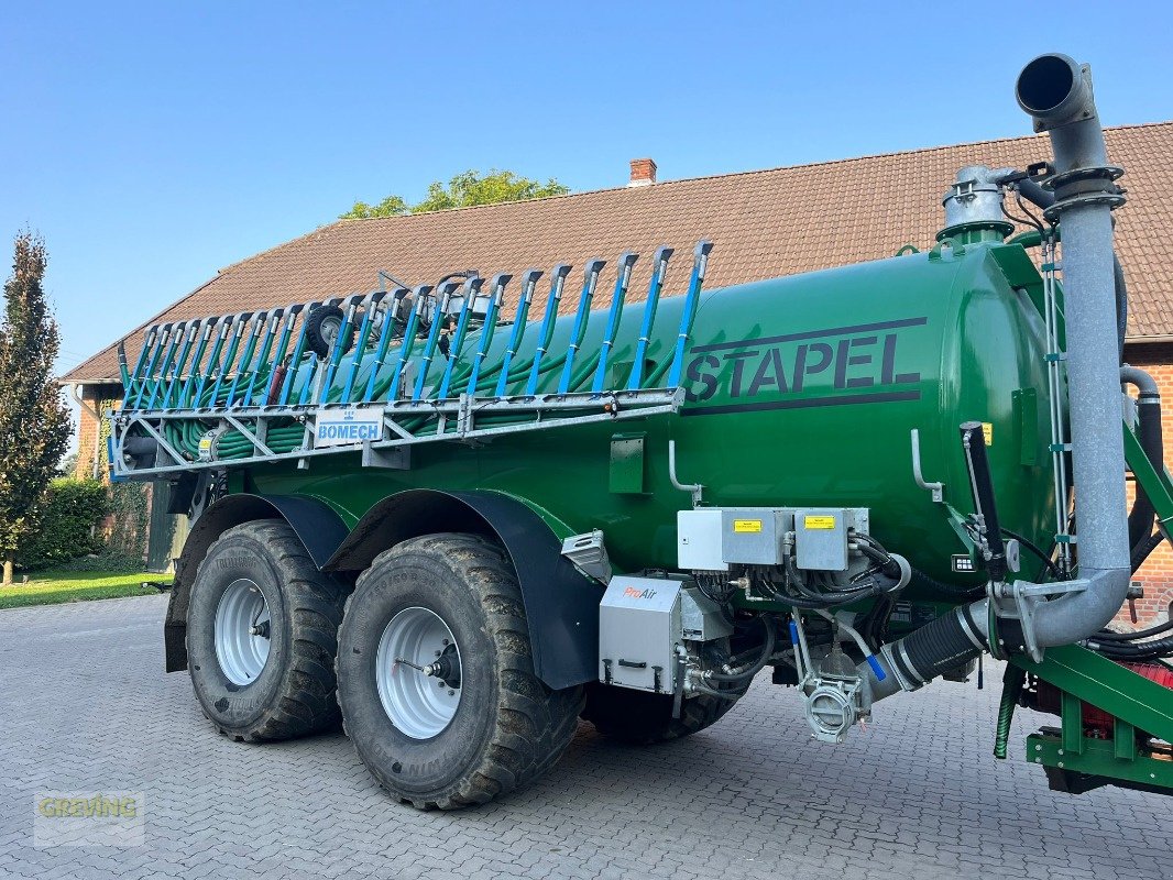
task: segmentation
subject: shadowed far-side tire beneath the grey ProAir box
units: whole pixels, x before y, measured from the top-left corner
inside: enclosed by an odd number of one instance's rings
[[[734,700],[701,695],[684,700],[680,717],[672,717],[672,696],[629,688],[586,685],[583,719],[605,737],[631,745],[651,745],[697,733],[733,708]]]

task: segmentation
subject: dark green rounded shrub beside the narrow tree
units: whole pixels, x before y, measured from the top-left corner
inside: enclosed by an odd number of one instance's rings
[[[16,554],[20,568],[57,566],[100,553],[103,542],[94,527],[110,514],[110,496],[95,480],[63,476],[49,483],[41,529]]]

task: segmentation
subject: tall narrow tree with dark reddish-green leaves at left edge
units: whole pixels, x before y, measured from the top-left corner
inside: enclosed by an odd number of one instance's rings
[[[46,487],[69,441],[69,414],[53,379],[57,323],[45,298],[45,242],[16,237],[0,321],[0,559],[12,583],[18,550],[38,530]]]

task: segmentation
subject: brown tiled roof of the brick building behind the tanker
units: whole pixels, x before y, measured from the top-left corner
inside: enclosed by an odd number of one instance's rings
[[[1108,155],[1127,174],[1128,203],[1117,212],[1117,242],[1128,272],[1130,338],[1173,334],[1173,122],[1106,130]],[[382,219],[338,221],[236,263],[129,334],[160,320],[259,310],[375,286],[385,269],[409,284],[475,268],[488,276],[549,270],[565,260],[637,263],[631,298],[646,289],[652,251],[678,249],[666,292],[687,277],[699,238],[714,243],[706,286],[794,275],[925,246],[943,222],[941,197],[968,164],[1024,168],[1050,157],[1030,136],[866,156],[811,165],[667,181],[651,187],[581,192],[530,202],[463,208]],[[577,278],[572,275],[571,278]],[[605,278],[605,276],[604,276]],[[610,285],[601,283],[597,305]],[[535,297],[535,309],[541,306]],[[576,297],[564,300],[572,307]],[[117,341],[63,381],[116,379]]]

